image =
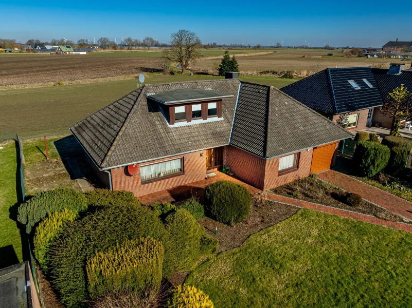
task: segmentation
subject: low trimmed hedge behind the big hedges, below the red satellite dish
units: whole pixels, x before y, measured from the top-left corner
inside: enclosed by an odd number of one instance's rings
[[[86,192],[87,202],[90,206],[110,206],[120,204],[141,205],[140,201],[133,195],[133,192],[125,190],[110,190],[98,188]]]

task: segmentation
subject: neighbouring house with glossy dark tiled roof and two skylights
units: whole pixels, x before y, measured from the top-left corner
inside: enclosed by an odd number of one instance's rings
[[[383,105],[370,67],[327,68],[281,90],[348,130],[371,125]]]

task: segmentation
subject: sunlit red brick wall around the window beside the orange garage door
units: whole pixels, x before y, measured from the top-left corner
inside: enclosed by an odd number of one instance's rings
[[[297,178],[308,177],[311,171],[312,154],[313,149],[310,149],[310,151],[301,151],[298,169],[283,176],[278,176],[280,158],[278,157],[267,160],[264,177],[264,190],[292,182]]]

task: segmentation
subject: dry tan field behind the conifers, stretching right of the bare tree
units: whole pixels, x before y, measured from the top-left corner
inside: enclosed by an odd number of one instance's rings
[[[320,56],[320,57],[319,57]],[[302,76],[309,72],[314,73],[331,67],[356,67],[371,66],[378,68],[389,68],[389,63],[400,62],[397,59],[368,59],[366,57],[343,57],[335,52],[334,56],[327,56],[327,52],[272,52],[265,55],[251,55],[237,57],[240,72],[242,74],[256,74],[264,70],[296,71]],[[205,59],[195,67],[194,70],[212,70],[213,64],[219,60]],[[410,62],[402,61],[407,67]],[[305,73],[304,71],[307,71]]]

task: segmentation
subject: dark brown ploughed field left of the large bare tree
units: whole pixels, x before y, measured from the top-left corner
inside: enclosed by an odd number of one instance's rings
[[[0,58],[0,86],[161,72],[155,57],[40,55]]]

